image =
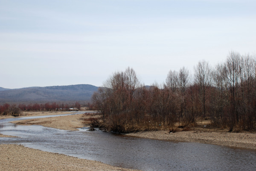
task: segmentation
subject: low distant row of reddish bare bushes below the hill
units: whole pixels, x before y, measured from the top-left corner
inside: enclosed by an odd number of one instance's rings
[[[84,105],[87,108],[93,108],[90,103]],[[34,103],[34,104],[8,104],[0,105],[0,115],[19,116],[20,111],[70,111],[71,108],[80,110],[81,104],[76,103]]]

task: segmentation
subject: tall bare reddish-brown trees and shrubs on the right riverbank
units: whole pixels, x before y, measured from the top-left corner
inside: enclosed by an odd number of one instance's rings
[[[102,126],[116,132],[195,125],[209,119],[230,131],[256,130],[255,56],[230,52],[211,67],[202,60],[194,75],[185,67],[170,70],[163,85],[141,85],[132,68],[115,72],[92,100]]]

